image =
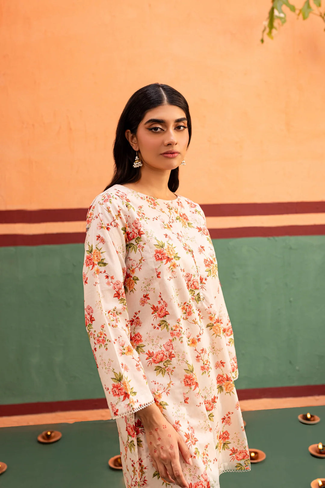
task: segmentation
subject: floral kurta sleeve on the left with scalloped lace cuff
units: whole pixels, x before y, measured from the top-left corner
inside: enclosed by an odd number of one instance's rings
[[[124,290],[126,229],[118,201],[97,196],[87,214],[85,324],[112,418],[154,403],[139,354],[130,342]]]

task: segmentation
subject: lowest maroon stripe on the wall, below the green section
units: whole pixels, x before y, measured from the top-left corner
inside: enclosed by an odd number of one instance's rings
[[[278,386],[273,388],[248,388],[237,390],[239,401],[258,398],[286,398],[325,395],[325,385]],[[67,400],[63,402],[37,402],[0,405],[0,417],[33,415],[38,413],[66,412],[69,410],[96,410],[108,408],[106,398]]]

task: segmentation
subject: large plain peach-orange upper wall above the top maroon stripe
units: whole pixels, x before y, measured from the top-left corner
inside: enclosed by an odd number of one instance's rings
[[[155,81],[191,109],[179,193],[199,203],[324,200],[324,25],[288,13],[262,45],[269,6],[2,2],[0,209],[88,207],[111,178],[125,103]]]

